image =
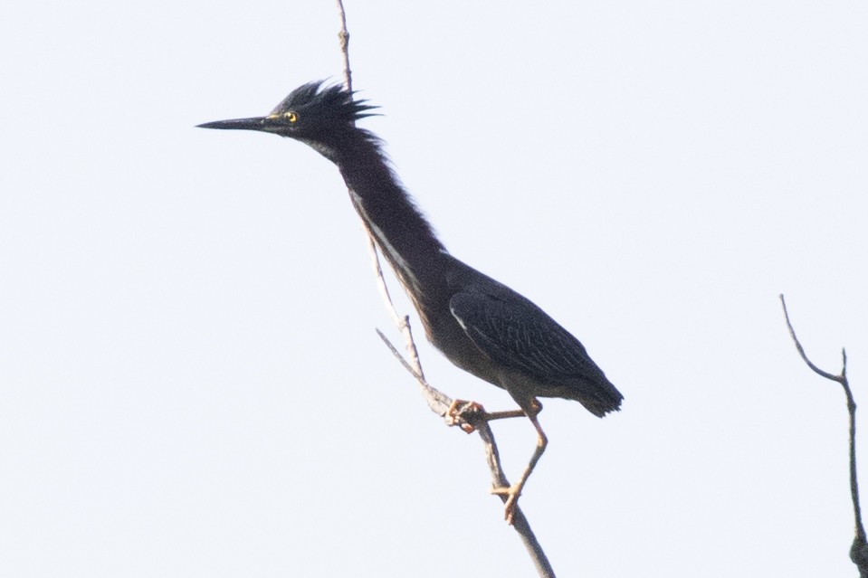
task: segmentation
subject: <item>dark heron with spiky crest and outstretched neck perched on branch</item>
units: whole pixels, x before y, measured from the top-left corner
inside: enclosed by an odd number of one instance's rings
[[[446,250],[406,191],[384,142],[356,122],[377,109],[340,84],[309,82],[264,117],[218,120],[199,128],[254,130],[304,143],[334,163],[350,200],[377,247],[395,270],[427,339],[453,365],[506,390],[537,432],[537,444],[518,482],[492,488],[505,496],[513,522],[518,498],[548,446],[539,424],[538,397],[575,400],[604,417],[624,396],[585,346],[524,297]]]

